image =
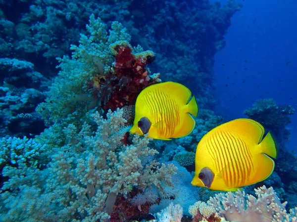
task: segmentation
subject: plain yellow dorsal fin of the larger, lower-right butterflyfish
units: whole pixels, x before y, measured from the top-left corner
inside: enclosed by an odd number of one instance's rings
[[[235,133],[238,136],[249,138],[256,144],[259,144],[264,135],[264,127],[252,120],[247,118],[235,119],[230,122],[226,122],[219,126],[221,130],[227,130],[230,133]]]

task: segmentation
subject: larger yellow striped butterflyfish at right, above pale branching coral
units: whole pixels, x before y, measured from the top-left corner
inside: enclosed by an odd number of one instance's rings
[[[235,119],[209,131],[198,143],[192,185],[237,191],[267,179],[274,170],[276,142],[252,119]]]

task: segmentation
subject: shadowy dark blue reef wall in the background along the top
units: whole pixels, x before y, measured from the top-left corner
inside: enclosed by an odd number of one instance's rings
[[[21,0],[0,1],[0,8],[1,57],[27,60],[51,77],[56,73],[55,58],[71,53],[69,44],[86,34],[85,23],[93,13],[108,26],[121,22],[133,44],[154,49],[153,68],[164,79],[193,82],[198,102],[211,107],[213,56],[224,47],[231,17],[241,5],[236,0],[224,6],[208,0]]]

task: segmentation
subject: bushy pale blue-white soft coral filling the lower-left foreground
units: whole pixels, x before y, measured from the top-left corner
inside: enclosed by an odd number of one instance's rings
[[[69,124],[62,132],[67,143],[53,148],[49,168],[30,167],[21,159],[18,166],[3,168],[2,175],[9,178],[0,194],[3,221],[106,221],[117,197],[128,198],[133,187],[162,190],[172,185],[176,167],[147,161],[157,152],[148,148],[148,138],[135,136],[133,145],[123,146],[122,111],[109,111],[107,119],[98,112],[88,116],[97,129],[87,123],[81,129]]]

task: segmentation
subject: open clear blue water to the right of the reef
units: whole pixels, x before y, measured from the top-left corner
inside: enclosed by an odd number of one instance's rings
[[[218,111],[226,120],[244,117],[261,98],[297,110],[297,1],[238,1],[243,8],[232,18],[226,47],[215,56]],[[287,147],[297,148],[297,114],[290,127]]]

